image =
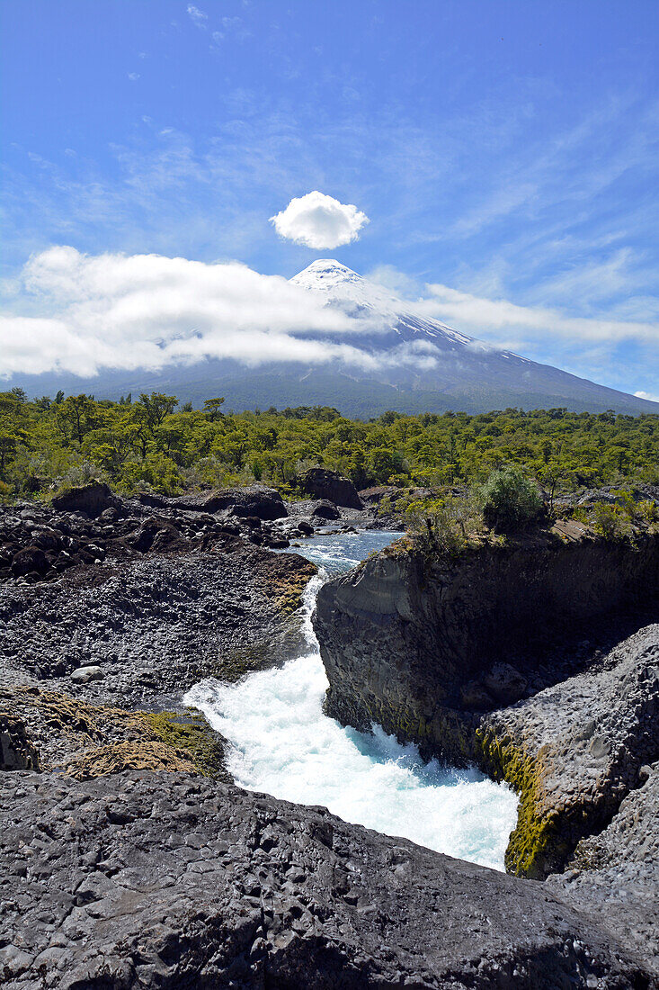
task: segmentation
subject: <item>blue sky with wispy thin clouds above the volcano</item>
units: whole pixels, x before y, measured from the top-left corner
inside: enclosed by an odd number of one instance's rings
[[[655,0],[3,0],[0,17],[10,314],[51,315],[24,266],[52,246],[286,277],[329,254],[459,330],[659,396]],[[355,241],[277,235],[312,190],[369,218]]]

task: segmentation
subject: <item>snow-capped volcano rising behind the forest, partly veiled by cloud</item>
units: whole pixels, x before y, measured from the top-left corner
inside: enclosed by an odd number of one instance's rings
[[[108,371],[94,379],[69,375],[21,376],[11,381],[33,395],[58,389],[118,398],[165,392],[201,405],[224,395],[227,409],[333,406],[345,416],[400,413],[467,413],[493,409],[656,412],[657,405],[577,378],[558,368],[499,351],[424,315],[339,261],[314,261],[290,282],[336,313],[325,329],[297,328],[309,359],[285,356],[255,367],[239,356],[174,364],[161,371]],[[345,318],[349,317],[348,320]],[[285,329],[285,328],[284,328]],[[319,347],[320,345],[320,347]],[[319,360],[319,350],[324,358]],[[303,354],[305,350],[303,349]],[[329,357],[328,357],[329,353]],[[333,355],[333,356],[332,356]]]

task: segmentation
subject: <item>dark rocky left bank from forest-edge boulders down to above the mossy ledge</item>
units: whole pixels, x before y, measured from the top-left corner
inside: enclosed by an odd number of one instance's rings
[[[270,549],[369,522],[329,508],[262,486],[122,499],[101,484],[0,506],[0,685],[135,708],[285,656],[315,568]]]

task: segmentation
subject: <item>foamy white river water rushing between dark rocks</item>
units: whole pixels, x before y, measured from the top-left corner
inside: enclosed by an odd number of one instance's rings
[[[358,534],[310,541],[302,551],[332,571],[393,535]],[[235,685],[206,680],[185,703],[201,709],[232,743],[235,781],[307,805],[325,805],[347,822],[462,859],[504,868],[517,820],[518,799],[475,769],[424,763],[414,745],[402,746],[375,726],[373,735],[344,729],[323,714],[328,687],[311,613],[327,573],[305,593],[303,655],[283,667],[250,674]]]

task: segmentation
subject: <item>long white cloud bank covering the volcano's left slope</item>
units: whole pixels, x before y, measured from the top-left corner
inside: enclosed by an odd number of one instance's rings
[[[370,368],[433,361],[414,347],[376,358],[343,343],[341,335],[372,328],[237,262],[51,247],[30,259],[21,282],[38,315],[0,318],[0,376],[54,369],[93,375],[205,357],[248,365],[339,359]]]

